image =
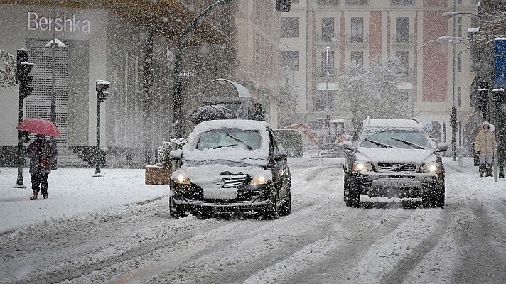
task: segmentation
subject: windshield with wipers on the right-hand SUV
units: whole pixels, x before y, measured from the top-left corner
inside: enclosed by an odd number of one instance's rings
[[[368,136],[360,147],[424,149],[431,147],[431,141],[424,131],[388,130]]]

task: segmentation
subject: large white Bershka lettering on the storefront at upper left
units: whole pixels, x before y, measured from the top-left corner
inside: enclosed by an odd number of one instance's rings
[[[67,16],[63,14],[63,18],[48,18],[38,16],[36,12],[26,13],[28,21],[28,30],[41,30],[41,31],[53,31],[53,27],[56,31],[63,31],[69,33],[90,33],[91,23],[89,20],[80,20],[76,18],[75,14]]]

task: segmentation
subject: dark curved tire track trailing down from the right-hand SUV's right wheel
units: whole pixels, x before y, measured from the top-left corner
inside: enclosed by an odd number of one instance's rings
[[[390,273],[384,275],[379,283],[402,283],[407,277],[409,272],[416,268],[424,256],[441,241],[441,237],[446,233],[448,224],[450,223],[450,210],[444,209],[441,211],[442,219],[436,225],[434,233],[431,237],[422,241],[416,248],[411,252],[407,258],[400,260],[396,266],[392,268]]]

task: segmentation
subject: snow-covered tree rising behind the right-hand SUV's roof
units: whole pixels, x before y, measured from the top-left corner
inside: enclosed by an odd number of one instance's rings
[[[367,116],[411,118],[414,115],[413,104],[397,87],[405,81],[406,70],[398,58],[386,58],[366,67],[348,65],[338,84],[353,127],[360,126]]]

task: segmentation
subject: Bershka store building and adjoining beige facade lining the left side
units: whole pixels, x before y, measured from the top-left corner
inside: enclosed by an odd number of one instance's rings
[[[0,1],[0,49],[30,50],[36,65],[24,118],[50,118],[55,67],[56,117],[61,155],[89,151],[96,143],[96,80],[111,82],[102,103],[101,147],[109,165],[154,163],[173,137],[174,57],[183,31],[215,1]],[[262,19],[262,21],[260,21]],[[226,78],[262,99],[276,127],[279,98],[279,19],[273,1],[237,0],[217,7],[193,29],[181,49],[185,133],[188,116],[203,102],[208,82]],[[54,23],[54,25],[52,24]],[[52,38],[65,48],[45,47]],[[18,143],[18,92],[0,89],[2,164],[13,164]],[[69,150],[70,149],[70,150]]]

